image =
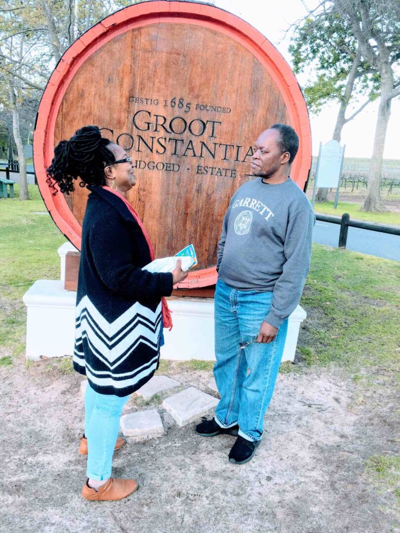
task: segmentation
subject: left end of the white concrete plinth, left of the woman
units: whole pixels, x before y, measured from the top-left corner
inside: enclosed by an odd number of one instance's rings
[[[41,279],[23,295],[27,307],[26,358],[71,356],[74,351],[76,292],[64,282]]]

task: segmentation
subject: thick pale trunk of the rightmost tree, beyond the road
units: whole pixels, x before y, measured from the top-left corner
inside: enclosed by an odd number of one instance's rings
[[[378,109],[377,126],[375,128],[374,147],[370,169],[368,173],[367,195],[364,200],[362,211],[374,211],[382,213],[387,208],[381,199],[381,174],[383,150],[385,149],[386,131],[388,127],[391,107],[391,91],[393,90],[393,75],[390,65],[384,65],[381,71],[381,98]]]

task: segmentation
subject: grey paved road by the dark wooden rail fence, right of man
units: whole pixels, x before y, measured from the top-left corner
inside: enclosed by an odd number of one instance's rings
[[[316,221],[313,241],[328,246],[338,246],[339,224]],[[376,255],[386,259],[400,261],[400,236],[378,233],[377,231],[349,228],[347,235],[348,250],[362,252],[363,254]]]

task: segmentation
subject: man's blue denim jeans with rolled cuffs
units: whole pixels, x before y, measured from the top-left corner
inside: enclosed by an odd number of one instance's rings
[[[262,437],[286,340],[287,318],[273,342],[254,342],[272,297],[272,292],[234,289],[221,279],[215,289],[214,376],[221,395],[215,421],[221,427],[238,424],[239,435],[251,441]]]

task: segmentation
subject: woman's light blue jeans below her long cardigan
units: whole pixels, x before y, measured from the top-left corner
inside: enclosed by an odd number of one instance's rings
[[[89,383],[85,392],[85,437],[87,439],[88,478],[96,481],[111,477],[114,447],[118,437],[119,418],[129,396],[119,398],[95,392]]]

